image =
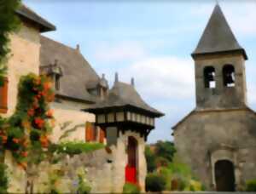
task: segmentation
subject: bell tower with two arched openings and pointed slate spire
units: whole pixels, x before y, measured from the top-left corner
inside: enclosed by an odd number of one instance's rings
[[[236,41],[218,4],[192,57],[197,110],[236,109],[247,105],[247,54]]]

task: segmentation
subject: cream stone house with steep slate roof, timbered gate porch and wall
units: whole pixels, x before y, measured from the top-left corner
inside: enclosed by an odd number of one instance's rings
[[[71,123],[67,129],[74,126],[77,129],[65,140],[96,141],[108,144],[110,149],[110,153],[102,149],[89,156],[63,161],[69,174],[79,167],[86,169],[93,192],[121,192],[125,182],[137,183],[144,191],[147,174],[145,141],[154,128],[154,118],[162,116],[162,113],[142,100],[134,84],[116,82],[109,89],[105,76],[97,75],[80,53],[79,45],[70,48],[42,36],[43,32],[55,31],[55,26],[32,9],[21,5],[16,14],[20,17],[21,26],[20,31],[10,34],[8,75],[0,88],[0,116],[9,117],[15,112],[20,77],[29,73],[46,74],[52,78],[55,88],[55,102],[50,106],[56,127],[51,140],[58,142],[63,134],[61,125]],[[106,102],[108,106],[104,106]],[[93,111],[100,106],[105,111],[113,111],[108,112],[106,125],[96,119],[98,111]],[[114,119],[113,122],[109,117]],[[9,151],[6,151],[4,162],[9,166],[9,192],[25,192],[26,173],[17,168]],[[40,191],[40,185],[45,185],[43,180],[48,179],[45,166],[38,171],[41,174],[35,180],[36,192]],[[66,178],[65,192],[71,192],[68,184],[72,176]]]

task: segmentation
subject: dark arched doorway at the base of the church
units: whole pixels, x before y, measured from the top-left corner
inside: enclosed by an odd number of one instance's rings
[[[235,191],[235,168],[229,160],[219,160],[214,165],[216,191]]]

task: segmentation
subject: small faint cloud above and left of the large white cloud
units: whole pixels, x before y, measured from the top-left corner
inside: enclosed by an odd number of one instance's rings
[[[102,43],[96,46],[95,58],[104,62],[137,60],[145,55],[141,43],[126,41],[117,44]]]

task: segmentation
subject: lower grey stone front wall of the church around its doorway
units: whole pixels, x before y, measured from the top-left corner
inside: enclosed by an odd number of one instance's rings
[[[230,160],[235,166],[236,189],[256,178],[256,117],[250,110],[201,111],[174,131],[179,157],[214,190],[214,164]]]

